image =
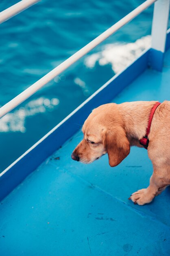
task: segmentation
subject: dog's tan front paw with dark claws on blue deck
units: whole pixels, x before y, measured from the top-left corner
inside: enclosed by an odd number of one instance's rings
[[[133,193],[129,200],[132,200],[134,204],[144,205],[150,203],[154,198],[154,195],[148,193],[148,189],[140,189]]]

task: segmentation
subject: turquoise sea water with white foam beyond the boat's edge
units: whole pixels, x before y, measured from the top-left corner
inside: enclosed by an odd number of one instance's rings
[[[17,1],[0,1],[0,11]],[[49,1],[0,25],[0,106],[144,1]],[[0,120],[0,171],[150,45],[153,7]],[[78,125],[78,124],[77,124]]]

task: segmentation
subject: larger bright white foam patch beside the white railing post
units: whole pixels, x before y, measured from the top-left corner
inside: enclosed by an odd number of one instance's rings
[[[118,73],[137,58],[142,51],[150,46],[151,36],[144,36],[134,43],[114,43],[103,46],[101,52],[92,54],[85,58],[84,64],[93,68],[98,62],[99,65],[111,64],[112,70]]]

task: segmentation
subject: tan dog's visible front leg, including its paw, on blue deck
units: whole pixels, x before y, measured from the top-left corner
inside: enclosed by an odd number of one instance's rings
[[[156,195],[159,195],[166,187],[170,184],[170,180],[167,177],[167,170],[161,170],[161,175],[159,171],[154,169],[153,175],[150,177],[150,184],[147,189],[140,189],[133,193],[129,199],[131,199],[134,204],[148,204],[150,203]],[[165,177],[163,177],[165,175]]]

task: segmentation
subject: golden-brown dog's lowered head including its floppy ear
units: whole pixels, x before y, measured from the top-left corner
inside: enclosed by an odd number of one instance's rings
[[[92,111],[82,128],[84,138],[72,153],[72,159],[92,163],[108,153],[110,166],[116,166],[130,152],[121,113],[115,103]]]

